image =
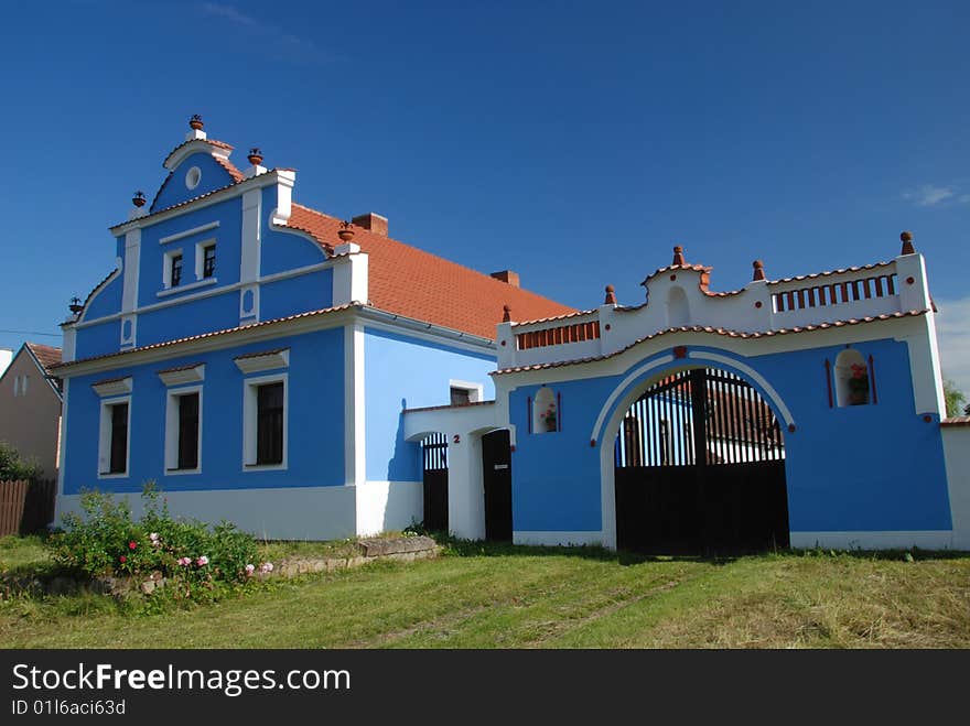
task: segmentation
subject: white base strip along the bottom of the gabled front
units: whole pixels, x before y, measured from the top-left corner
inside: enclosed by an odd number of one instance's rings
[[[125,495],[137,518],[143,510],[138,494]],[[335,540],[354,537],[353,487],[266,487],[165,491],[173,517],[206,522],[226,519],[259,539]],[[80,512],[79,495],[60,495],[57,511]],[[279,564],[279,563],[276,563]]]

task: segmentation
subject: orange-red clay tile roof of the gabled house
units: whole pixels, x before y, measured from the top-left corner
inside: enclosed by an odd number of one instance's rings
[[[288,227],[327,250],[341,245],[341,220],[293,204]],[[476,272],[410,245],[354,227],[353,239],[368,259],[370,305],[454,331],[495,339],[503,306],[515,317],[543,318],[575,312],[528,290]]]

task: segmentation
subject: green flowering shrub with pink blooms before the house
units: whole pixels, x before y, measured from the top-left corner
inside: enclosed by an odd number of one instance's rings
[[[50,539],[54,561],[88,576],[164,577],[176,585],[172,592],[191,599],[207,598],[218,584],[246,583],[257,570],[256,541],[235,524],[175,519],[153,484],[142,501],[134,520],[126,498],[84,492],[83,514],[65,514],[63,531]]]

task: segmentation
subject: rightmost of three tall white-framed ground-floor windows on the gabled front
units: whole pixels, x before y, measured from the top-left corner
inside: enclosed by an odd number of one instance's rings
[[[242,442],[247,468],[287,468],[288,375],[247,378]]]

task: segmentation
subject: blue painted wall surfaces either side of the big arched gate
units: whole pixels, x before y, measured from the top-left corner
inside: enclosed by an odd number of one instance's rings
[[[824,360],[834,361],[844,346],[740,358],[770,382],[797,424],[795,433],[785,435],[791,531],[949,530],[939,426],[936,420],[924,422],[914,410],[906,345],[884,339],[854,347],[865,358],[873,356],[877,404],[829,408]],[[612,447],[615,436],[591,447],[590,433],[610,393],[628,373],[553,384],[562,398],[562,432],[556,434],[528,434],[526,399],[535,397],[538,384],[511,392],[516,530],[601,528],[599,447]],[[643,390],[658,375],[653,371],[625,390]]]

